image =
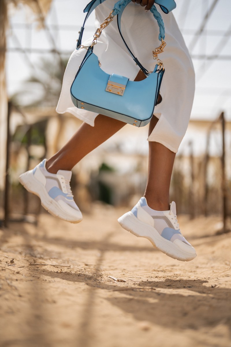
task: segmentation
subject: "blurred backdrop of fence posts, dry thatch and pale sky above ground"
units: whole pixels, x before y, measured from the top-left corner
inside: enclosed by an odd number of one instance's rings
[[[55,108],[85,17],[82,8],[88,1],[82,2],[0,2],[0,219],[5,226],[9,220],[36,223],[42,209],[39,200],[19,185],[18,176],[59,150],[81,125]],[[228,0],[178,0],[174,10],[192,55],[196,93],[176,156],[171,198],[178,214],[190,219],[219,215],[217,232],[229,231],[231,214],[228,8]],[[91,15],[85,38],[94,32]],[[96,201],[130,209],[139,200],[146,184],[147,133],[147,127],[126,125],[73,169],[72,191],[83,212],[90,213]]]

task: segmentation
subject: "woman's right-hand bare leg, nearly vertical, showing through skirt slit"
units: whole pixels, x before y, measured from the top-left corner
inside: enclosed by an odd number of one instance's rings
[[[152,117],[149,135],[158,119]],[[169,188],[176,153],[159,142],[149,141],[148,181],[144,196],[150,208],[157,211],[169,210]]]

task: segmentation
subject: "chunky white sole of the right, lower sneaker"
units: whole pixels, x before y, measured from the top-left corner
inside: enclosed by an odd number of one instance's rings
[[[196,251],[193,247],[192,253],[185,252],[173,242],[163,238],[155,228],[136,218],[131,211],[119,217],[118,222],[122,228],[130,231],[133,235],[147,238],[154,247],[173,259],[190,261],[196,257]]]

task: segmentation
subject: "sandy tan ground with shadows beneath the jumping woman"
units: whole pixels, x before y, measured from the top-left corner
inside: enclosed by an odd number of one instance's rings
[[[126,211],[0,229],[1,347],[231,346],[231,235],[215,235],[219,218],[179,218],[198,254],[179,262],[123,230]]]

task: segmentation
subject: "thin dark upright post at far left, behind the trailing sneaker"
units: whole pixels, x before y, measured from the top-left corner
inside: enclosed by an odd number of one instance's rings
[[[9,180],[9,163],[10,163],[10,113],[12,104],[8,101],[7,111],[7,146],[6,146],[6,178],[5,178],[5,195],[4,195],[4,227],[8,227],[9,220],[9,193],[10,193],[10,180]]]

